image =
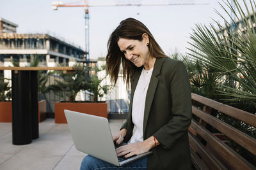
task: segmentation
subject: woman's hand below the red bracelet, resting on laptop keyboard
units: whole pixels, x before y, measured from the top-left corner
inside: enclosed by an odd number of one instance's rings
[[[142,141],[139,143],[130,143],[128,145],[120,146],[116,149],[116,154],[118,157],[125,155],[125,158],[131,157],[133,155],[139,155],[141,153],[148,152],[152,146],[147,141]]]

